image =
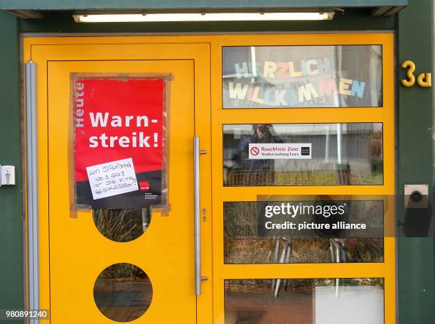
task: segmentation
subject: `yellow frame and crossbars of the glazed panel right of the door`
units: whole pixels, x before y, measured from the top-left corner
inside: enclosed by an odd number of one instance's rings
[[[225,279],[384,278],[385,323],[395,323],[394,204],[385,215],[384,262],[372,264],[224,264],[223,202],[256,201],[257,195],[394,196],[394,43],[392,33],[218,36],[212,42],[213,309],[224,323]],[[382,45],[383,106],[363,108],[222,109],[222,47],[254,45]],[[383,185],[223,187],[224,124],[382,122]],[[393,216],[393,217],[391,217]]]

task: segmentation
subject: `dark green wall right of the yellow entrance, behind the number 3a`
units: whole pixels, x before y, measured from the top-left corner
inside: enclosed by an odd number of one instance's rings
[[[398,18],[397,64],[413,60],[416,73],[433,72],[432,0],[409,2]],[[399,77],[404,78],[403,69]],[[434,193],[434,88],[398,89],[397,192],[402,194],[407,183],[428,183],[429,193]],[[397,210],[402,234],[414,236],[397,240],[399,323],[435,323],[433,210],[404,212],[400,200]]]

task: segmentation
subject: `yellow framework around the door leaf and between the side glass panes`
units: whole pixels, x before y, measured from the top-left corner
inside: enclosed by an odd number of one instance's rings
[[[155,59],[190,58],[195,65],[195,107],[200,107],[199,122],[195,134],[209,138],[201,149],[210,152],[202,157],[201,166],[211,166],[208,176],[211,188],[201,195],[207,209],[207,222],[202,224],[203,275],[211,279],[203,281],[204,298],[198,298],[198,323],[224,323],[223,282],[225,279],[261,278],[384,278],[385,323],[395,323],[395,239],[385,237],[384,262],[374,264],[251,264],[225,265],[223,262],[223,210],[225,201],[254,201],[257,195],[378,195],[393,196],[395,193],[394,156],[394,37],[392,33],[340,33],[313,35],[242,35],[242,36],[119,36],[119,37],[41,37],[24,38],[24,61],[38,63],[38,70],[47,68],[50,60],[90,59],[138,59],[143,53],[134,50],[135,44],[161,45],[155,51]],[[96,50],[116,48],[122,51]],[[171,45],[188,44],[185,50],[171,50]],[[378,108],[310,108],[310,109],[222,109],[222,47],[252,45],[382,45],[383,106]],[[84,48],[85,50],[78,50]],[[210,75],[203,71],[208,71]],[[38,93],[46,93],[46,75],[38,73]],[[208,109],[211,102],[211,109]],[[39,215],[48,215],[47,173],[47,119],[46,96],[38,96],[38,166],[39,166]],[[203,109],[202,107],[207,107]],[[195,110],[196,110],[195,109]],[[306,112],[310,112],[306,114]],[[315,116],[315,118],[314,118]],[[203,122],[207,121],[207,122]],[[346,185],[319,187],[223,187],[222,170],[222,125],[261,123],[336,123],[382,122],[384,131],[384,183],[383,185]],[[204,187],[204,186],[203,186]],[[213,191],[213,201],[212,193]],[[394,215],[394,210],[392,211]],[[211,215],[214,215],[211,217]],[[385,218],[385,232],[392,232],[394,217]],[[213,225],[213,233],[212,233]],[[41,308],[49,306],[48,291],[48,224],[40,220],[41,258]],[[213,249],[212,249],[213,247]],[[213,252],[213,259],[211,258]],[[208,257],[207,257],[208,256]],[[212,287],[213,282],[213,287]],[[213,296],[211,294],[213,288]],[[207,291],[210,291],[210,295]],[[213,302],[212,302],[213,300]],[[213,313],[212,313],[213,312]]]

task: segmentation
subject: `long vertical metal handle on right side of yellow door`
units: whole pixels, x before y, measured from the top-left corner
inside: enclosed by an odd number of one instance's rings
[[[201,294],[201,229],[200,229],[200,167],[199,137],[193,136],[193,202],[195,212],[195,295]]]

